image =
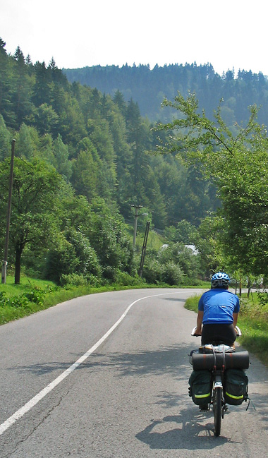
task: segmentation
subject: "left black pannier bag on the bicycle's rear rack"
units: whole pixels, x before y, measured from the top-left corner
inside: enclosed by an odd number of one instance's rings
[[[209,404],[212,394],[212,374],[209,370],[193,370],[189,385],[189,396],[195,404]]]

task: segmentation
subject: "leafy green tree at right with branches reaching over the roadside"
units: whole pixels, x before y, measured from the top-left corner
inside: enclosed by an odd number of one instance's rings
[[[201,169],[214,182],[221,200],[214,224],[220,248],[218,267],[225,264],[245,275],[267,275],[268,138],[256,121],[257,107],[250,107],[246,126],[236,123],[229,128],[221,116],[221,104],[214,121],[204,111],[200,113],[195,95],[178,93],[173,102],[164,104],[181,116],[159,125],[177,132],[159,151],[176,153],[185,164]]]

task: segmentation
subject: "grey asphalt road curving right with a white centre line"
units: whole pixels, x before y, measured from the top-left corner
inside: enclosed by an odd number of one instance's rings
[[[188,397],[200,339],[183,303],[198,292],[94,294],[1,326],[0,457],[267,458],[259,361],[248,370],[255,409],[230,406],[219,438],[212,411]]]

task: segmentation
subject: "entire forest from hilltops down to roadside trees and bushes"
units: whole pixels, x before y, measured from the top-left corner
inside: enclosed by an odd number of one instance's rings
[[[5,47],[0,39],[0,210],[6,214],[14,139],[8,265],[16,283],[23,270],[59,284],[131,284],[140,258],[128,234],[132,205],[142,205],[164,236],[164,248],[147,250],[150,284],[195,284],[219,268],[266,275],[261,73],[235,79],[210,65],[96,67],[88,83],[70,81],[53,58],[34,64],[19,46],[13,55]],[[164,81],[171,92],[159,90]],[[143,231],[145,219],[139,223]],[[2,246],[5,224],[1,218]]]

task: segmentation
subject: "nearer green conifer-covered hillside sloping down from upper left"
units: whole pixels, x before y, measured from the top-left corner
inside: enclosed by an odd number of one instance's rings
[[[212,209],[209,186],[195,169],[146,154],[157,133],[136,102],[68,83],[53,59],[47,67],[32,64],[19,47],[8,56],[3,41],[0,54],[1,159],[16,131],[18,156],[41,155],[76,194],[114,202],[123,217],[130,218],[131,204],[143,205],[159,229],[181,219],[198,224]]]

